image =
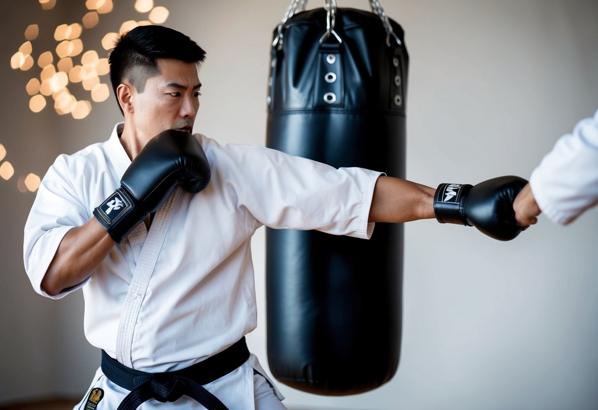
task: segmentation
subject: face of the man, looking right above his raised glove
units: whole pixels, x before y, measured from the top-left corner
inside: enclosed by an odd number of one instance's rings
[[[160,74],[147,79],[142,93],[132,93],[136,134],[149,139],[169,129],[191,132],[199,109],[197,67],[174,59],[156,62]]]

